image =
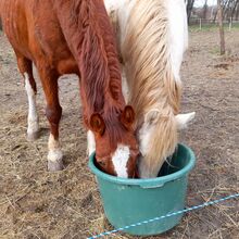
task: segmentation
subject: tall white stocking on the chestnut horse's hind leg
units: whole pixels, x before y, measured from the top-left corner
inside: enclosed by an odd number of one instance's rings
[[[24,73],[24,76],[25,76],[25,89],[28,98],[27,135],[33,136],[39,130],[39,121],[38,121],[37,108],[36,108],[36,93],[30,86],[28,74]]]

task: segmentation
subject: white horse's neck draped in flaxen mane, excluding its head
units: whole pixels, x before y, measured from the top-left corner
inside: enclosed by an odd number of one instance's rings
[[[181,4],[181,1],[178,2]],[[125,0],[120,7],[111,0],[105,0],[105,3],[109,13],[117,11],[129,103],[137,118],[144,114],[144,109],[151,108],[161,111],[171,109],[173,113],[178,113],[184,34],[174,37],[175,33],[171,33],[169,24],[176,25],[176,20],[167,15],[172,7],[167,1],[158,0]],[[184,15],[184,11],[180,14]],[[181,16],[180,24],[183,22]],[[184,25],[180,26],[183,28]]]

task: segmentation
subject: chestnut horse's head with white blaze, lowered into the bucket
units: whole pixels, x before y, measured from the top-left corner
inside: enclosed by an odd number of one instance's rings
[[[134,131],[135,112],[125,106],[120,114],[112,115],[111,122],[95,113],[90,128],[96,140],[96,160],[99,167],[118,177],[135,177],[139,148]]]

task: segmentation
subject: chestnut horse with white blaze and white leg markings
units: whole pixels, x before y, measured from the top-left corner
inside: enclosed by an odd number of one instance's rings
[[[133,177],[139,153],[133,130],[135,113],[125,105],[115,39],[103,1],[1,0],[0,4],[4,32],[25,78],[29,140],[39,131],[33,62],[39,72],[51,131],[48,168],[63,168],[58,78],[75,73],[80,76],[90,153],[96,147],[96,159],[106,173]],[[96,146],[91,144],[92,137]]]

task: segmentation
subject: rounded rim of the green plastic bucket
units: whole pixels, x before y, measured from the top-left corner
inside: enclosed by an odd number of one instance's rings
[[[177,171],[173,174],[156,177],[156,178],[123,178],[123,177],[116,177],[109,175],[100,169],[98,169],[93,163],[95,160],[95,152],[89,156],[89,163],[88,166],[90,171],[99,178],[104,179],[110,183],[114,183],[116,185],[125,185],[125,186],[140,186],[142,188],[154,188],[154,187],[162,187],[164,184],[168,181],[173,181],[176,179],[179,179],[181,177],[185,177],[189,174],[189,172],[192,169],[192,167],[196,164],[196,155],[193,151],[187,147],[186,144],[178,143],[178,148],[181,148],[186,150],[189,153],[189,163],[183,167],[180,171]]]

